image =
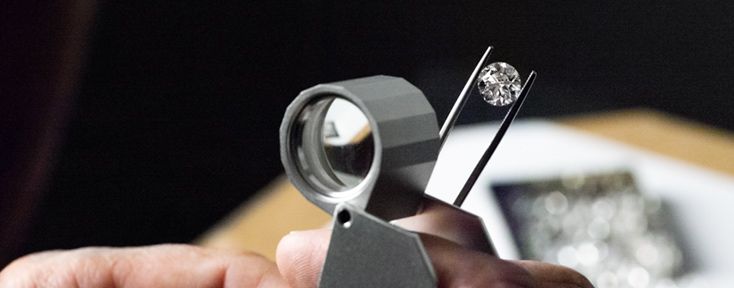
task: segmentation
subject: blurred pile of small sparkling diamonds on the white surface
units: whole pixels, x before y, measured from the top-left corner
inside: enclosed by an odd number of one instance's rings
[[[523,187],[508,207],[523,256],[576,269],[600,288],[691,287],[676,278],[683,254],[667,209],[629,173]]]

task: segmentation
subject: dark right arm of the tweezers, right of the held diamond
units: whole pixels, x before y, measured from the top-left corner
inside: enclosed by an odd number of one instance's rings
[[[535,73],[535,71],[530,72],[528,80],[525,82],[525,85],[523,85],[522,90],[520,90],[520,95],[517,97],[515,103],[512,104],[510,110],[507,111],[505,119],[503,119],[502,124],[500,124],[500,129],[497,131],[497,133],[494,135],[494,138],[492,139],[492,143],[490,143],[489,147],[487,147],[487,150],[484,151],[482,158],[479,159],[479,162],[474,167],[474,171],[471,172],[471,175],[469,175],[469,179],[467,179],[466,183],[464,183],[464,187],[461,189],[461,192],[459,192],[459,195],[456,196],[456,200],[454,200],[454,206],[461,207],[461,204],[463,204],[464,200],[466,200],[466,196],[469,195],[469,191],[471,191],[472,187],[474,187],[474,184],[477,182],[477,179],[479,179],[479,175],[482,174],[482,170],[484,170],[484,167],[487,166],[489,158],[492,157],[492,154],[494,154],[494,151],[497,150],[497,146],[499,146],[500,141],[502,141],[502,137],[505,136],[507,128],[509,128],[510,124],[512,124],[512,121],[515,120],[515,116],[517,116],[517,112],[520,111],[522,103],[525,102],[525,98],[528,96],[530,88],[533,87],[536,74],[537,73]],[[454,108],[456,108],[456,105],[454,105]],[[443,129],[441,131],[443,131]]]

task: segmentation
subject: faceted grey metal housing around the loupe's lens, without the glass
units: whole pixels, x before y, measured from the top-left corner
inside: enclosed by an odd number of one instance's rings
[[[304,108],[324,97],[343,98],[356,105],[367,117],[374,137],[370,171],[361,183],[345,191],[331,191],[334,189],[328,185],[307,179],[309,175],[300,169],[293,146],[308,140],[301,139],[306,133],[298,126],[299,119],[309,116],[301,115]],[[302,126],[308,125],[319,126]],[[291,182],[309,201],[328,213],[340,203],[349,203],[385,220],[416,213],[439,145],[433,107],[418,88],[390,76],[320,84],[304,90],[288,106],[280,126],[281,161]]]

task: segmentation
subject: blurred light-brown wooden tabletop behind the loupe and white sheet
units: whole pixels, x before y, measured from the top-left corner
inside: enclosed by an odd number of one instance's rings
[[[734,175],[734,134],[647,109],[554,119],[557,123]],[[321,227],[330,216],[306,201],[284,176],[205,232],[196,244],[252,251],[270,259],[281,237]]]

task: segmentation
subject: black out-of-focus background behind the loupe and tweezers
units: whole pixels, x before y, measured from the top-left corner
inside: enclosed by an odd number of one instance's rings
[[[282,173],[300,90],[401,76],[444,119],[487,45],[539,73],[521,118],[644,106],[734,129],[730,1],[345,2],[97,3],[18,253],[190,241]]]

